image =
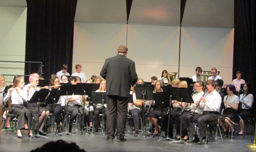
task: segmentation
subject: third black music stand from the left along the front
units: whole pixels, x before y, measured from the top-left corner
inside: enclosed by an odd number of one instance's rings
[[[72,136],[74,136],[75,134],[72,134],[71,132],[67,131],[68,128],[68,95],[73,95],[73,93],[75,92],[75,89],[77,88],[77,85],[70,85],[70,84],[63,84],[60,88],[61,90],[61,96],[65,96],[66,95],[66,100],[65,100],[65,112],[66,112],[66,128],[65,128],[65,132],[61,132],[59,134],[70,134]]]

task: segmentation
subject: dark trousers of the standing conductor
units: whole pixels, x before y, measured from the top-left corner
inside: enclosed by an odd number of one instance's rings
[[[116,95],[108,95],[106,97],[107,118],[106,118],[106,133],[109,139],[115,138],[115,130],[117,123],[117,139],[125,137],[125,118],[127,114],[128,99]],[[116,119],[117,117],[117,119]]]

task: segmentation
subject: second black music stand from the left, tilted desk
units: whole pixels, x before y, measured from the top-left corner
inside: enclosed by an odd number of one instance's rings
[[[55,104],[59,101],[59,97],[61,96],[61,91],[58,88],[52,89],[45,100],[45,104],[53,104],[53,133],[52,135],[55,137],[56,135],[61,136],[61,134],[56,134],[54,131],[55,128]]]

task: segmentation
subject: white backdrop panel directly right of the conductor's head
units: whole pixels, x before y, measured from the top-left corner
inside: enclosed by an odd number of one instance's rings
[[[145,81],[160,77],[164,69],[177,72],[179,27],[129,24],[127,57],[134,60],[136,72]]]

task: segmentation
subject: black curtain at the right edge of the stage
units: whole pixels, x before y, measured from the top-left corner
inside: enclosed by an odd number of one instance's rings
[[[233,57],[233,79],[236,71],[242,70],[243,79],[253,86],[255,97],[256,71],[256,3],[255,0],[235,0],[235,33],[234,33],[234,57]]]

